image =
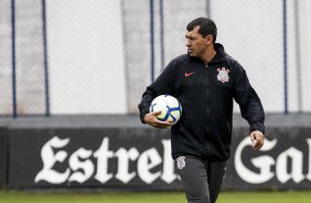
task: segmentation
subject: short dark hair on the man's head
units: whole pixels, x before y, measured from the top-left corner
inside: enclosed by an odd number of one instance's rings
[[[197,19],[194,19],[193,21],[191,21],[186,25],[186,30],[187,31],[192,31],[196,26],[200,26],[199,28],[199,33],[203,38],[207,36],[208,34],[212,34],[213,41],[215,43],[216,38],[217,38],[217,26],[216,26],[215,22],[212,19],[208,19],[208,18],[197,18]]]

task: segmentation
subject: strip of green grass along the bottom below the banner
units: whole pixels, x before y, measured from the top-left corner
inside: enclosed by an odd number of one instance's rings
[[[310,203],[311,191],[222,192],[217,203]],[[0,203],[186,203],[182,192],[64,193],[1,191]]]

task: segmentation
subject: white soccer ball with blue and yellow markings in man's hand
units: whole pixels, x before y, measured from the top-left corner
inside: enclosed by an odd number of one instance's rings
[[[158,115],[157,118],[162,121],[172,122],[172,126],[179,121],[182,115],[181,103],[171,95],[160,95],[156,97],[149,110],[150,113],[161,110],[161,114]]]

